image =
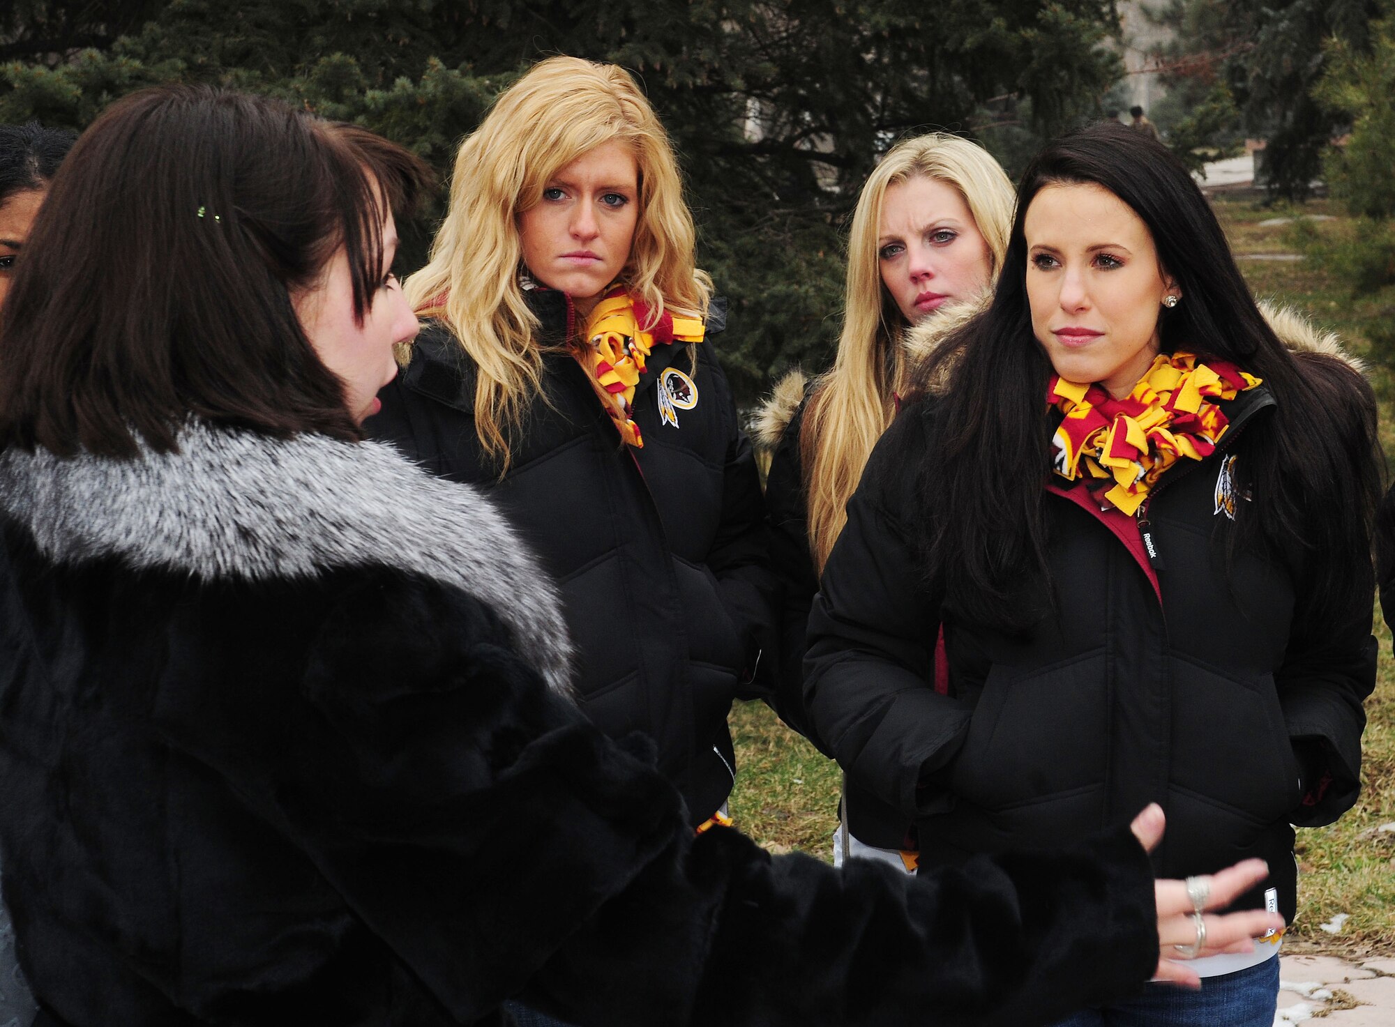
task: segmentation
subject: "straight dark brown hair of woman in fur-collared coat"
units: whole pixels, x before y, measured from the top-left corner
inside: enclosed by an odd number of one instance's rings
[[[361,438],[292,293],[343,246],[371,307],[382,222],[428,172],[363,128],[205,87],[134,93],[63,163],[0,311],[0,445],[176,448],[188,416]]]

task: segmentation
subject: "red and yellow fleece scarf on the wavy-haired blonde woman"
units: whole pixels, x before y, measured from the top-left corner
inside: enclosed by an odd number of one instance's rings
[[[698,318],[674,317],[665,310],[650,328],[640,328],[651,320],[642,299],[625,286],[611,286],[586,320],[580,346],[573,350],[619,437],[636,449],[644,448],[644,440],[631,416],[631,403],[644,360],[656,345],[703,340],[703,322]]]

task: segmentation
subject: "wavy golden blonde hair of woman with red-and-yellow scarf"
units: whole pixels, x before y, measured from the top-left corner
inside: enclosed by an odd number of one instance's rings
[[[665,307],[703,317],[711,279],[693,264],[693,220],[668,134],[624,68],[578,57],[534,64],[460,144],[431,258],[406,283],[413,308],[445,322],[478,368],[474,427],[501,473],[509,434],[543,385],[516,216],[541,201],[558,170],[614,141],[628,144],[639,166],[625,285],[656,318]]]

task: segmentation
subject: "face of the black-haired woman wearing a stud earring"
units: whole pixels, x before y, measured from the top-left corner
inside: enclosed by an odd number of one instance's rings
[[[1129,395],[1158,354],[1163,299],[1182,296],[1148,226],[1095,184],[1046,186],[1023,225],[1032,332],[1056,374]]]

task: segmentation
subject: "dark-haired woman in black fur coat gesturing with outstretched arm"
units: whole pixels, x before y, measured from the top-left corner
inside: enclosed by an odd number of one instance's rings
[[[695,836],[578,710],[490,501],[361,441],[417,331],[420,184],[190,88],[54,180],[0,340],[0,847],[39,1023],[1018,1024],[1184,980],[1186,889],[1127,829],[917,880]]]

